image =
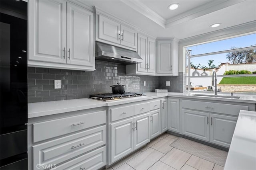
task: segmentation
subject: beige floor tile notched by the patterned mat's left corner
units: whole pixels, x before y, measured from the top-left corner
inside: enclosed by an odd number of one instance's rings
[[[153,145],[151,148],[156,149],[164,154],[167,154],[167,152],[169,152],[173,148],[170,146],[170,144],[173,143],[174,141],[175,139],[164,138],[155,145]]]

